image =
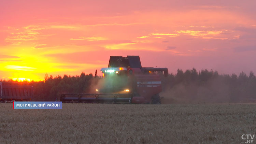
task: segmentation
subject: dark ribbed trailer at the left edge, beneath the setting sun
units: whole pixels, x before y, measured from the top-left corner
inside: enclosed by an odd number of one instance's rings
[[[17,82],[0,82],[0,101],[31,101],[33,99],[33,87],[29,84]]]

